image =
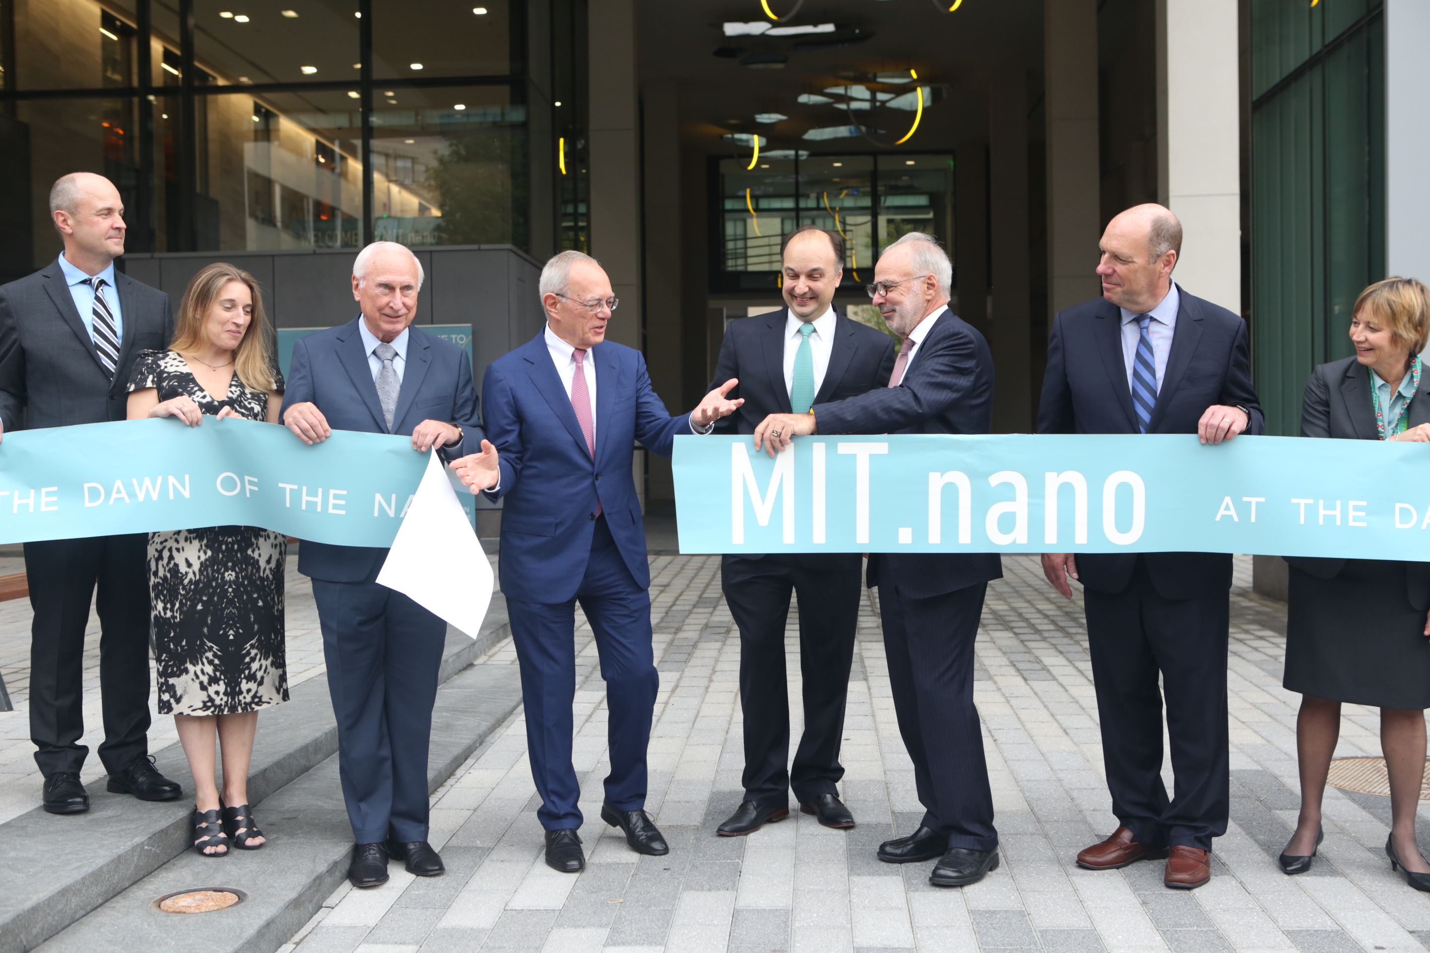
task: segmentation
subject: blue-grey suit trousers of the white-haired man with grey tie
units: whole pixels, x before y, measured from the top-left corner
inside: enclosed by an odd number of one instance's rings
[[[353,840],[428,839],[428,743],[446,623],[378,583],[313,580]]]

